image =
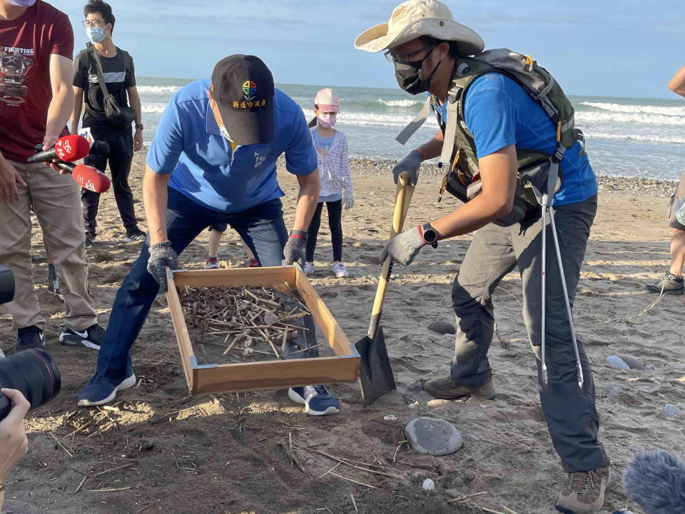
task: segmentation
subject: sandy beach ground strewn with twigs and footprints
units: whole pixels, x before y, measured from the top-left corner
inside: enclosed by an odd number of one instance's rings
[[[297,182],[281,171],[290,225]],[[390,228],[395,185],[388,163],[355,161],[352,171],[356,203],[343,214],[350,277],[338,279],[330,271],[324,216],[310,281],[350,340],[357,341],[367,330],[380,273],[376,258]],[[139,153],[130,182],[141,228],[142,172]],[[602,178],[600,183],[599,213],[574,315],[594,370],[601,439],[612,458],[602,511],[612,513],[628,501],[621,470],[634,455],[659,447],[685,456],[685,414],[664,415],[666,403],[685,410],[685,304],[682,296],[666,296],[625,322],[656,299],[644,283],[666,271],[671,232],[666,208],[674,184],[637,178]],[[450,196],[437,203],[439,188],[440,176],[427,170],[407,223],[437,218],[460,205]],[[101,199],[98,223],[96,244],[88,250],[89,286],[106,327],[117,288],[141,243],[123,243],[111,192]],[[29,414],[29,453],[6,480],[7,513],[554,512],[567,475],[542,418],[516,274],[507,276],[494,294],[498,337],[489,356],[497,399],[435,400],[421,388],[422,381],[442,376],[452,358],[453,336],[432,333],[427,325],[454,322],[450,291],[469,236],[427,248],[412,266],[395,268],[382,324],[397,391],[363,408],[356,383],[333,385],[341,413],[313,418],[285,390],[189,396],[164,296],[153,304],[133,348],[138,386],[120,393],[110,408],[77,408],[76,394],[91,378],[96,352],[56,342],[64,304],[46,289],[37,223],[34,229],[34,280],[49,322],[46,349],[61,368],[62,389],[55,400]],[[183,253],[181,266],[203,267],[207,241],[205,232]],[[243,258],[238,236],[228,231],[221,265],[242,266]],[[6,353],[14,346],[10,324],[2,313],[0,346]],[[605,359],[617,353],[638,356],[656,369],[612,368]],[[397,420],[383,420],[389,414]],[[420,415],[453,423],[463,447],[446,457],[409,450],[402,443],[403,429]],[[350,463],[373,465],[377,473]],[[435,490],[422,489],[425,478],[435,481]],[[636,505],[627,506],[641,513]]]

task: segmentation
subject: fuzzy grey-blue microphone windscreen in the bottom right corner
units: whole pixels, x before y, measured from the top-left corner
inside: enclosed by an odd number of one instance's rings
[[[685,514],[685,463],[673,453],[638,455],[624,471],[623,485],[645,514]]]

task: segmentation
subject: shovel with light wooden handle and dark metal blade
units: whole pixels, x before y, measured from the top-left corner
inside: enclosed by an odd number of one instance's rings
[[[414,186],[410,184],[409,173],[400,173],[397,178],[397,193],[395,194],[395,211],[392,215],[392,229],[390,238],[402,231],[409,203],[414,194]],[[390,257],[383,262],[383,268],[378,281],[376,296],[371,310],[371,323],[367,335],[355,343],[355,348],[361,357],[359,382],[362,386],[362,402],[368,407],[385,393],[396,389],[395,377],[392,375],[390,359],[387,357],[385,337],[380,326],[380,316],[383,312],[385,293],[392,273]]]

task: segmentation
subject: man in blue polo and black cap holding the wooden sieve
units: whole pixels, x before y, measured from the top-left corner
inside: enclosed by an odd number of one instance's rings
[[[300,183],[290,236],[276,180],[283,153]],[[135,385],[129,351],[160,287],[166,291],[165,269],[178,268],[178,254],[208,226],[228,223],[261,266],[303,266],[319,194],[316,166],[302,109],[274,88],[271,72],[255,56],[228,56],[211,81],[192,82],[173,96],[143,176],[148,238],[116,295],[98,369],[78,405],[103,405]],[[291,388],[289,396],[313,415],[339,410],[323,385]]]

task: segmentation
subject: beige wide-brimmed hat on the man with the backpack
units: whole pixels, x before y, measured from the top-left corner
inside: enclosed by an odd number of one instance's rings
[[[395,7],[390,20],[372,26],[355,40],[355,48],[370,52],[392,49],[419,36],[432,36],[459,44],[460,54],[480,54],[482,38],[467,26],[458,24],[450,9],[437,0],[408,0]]]

